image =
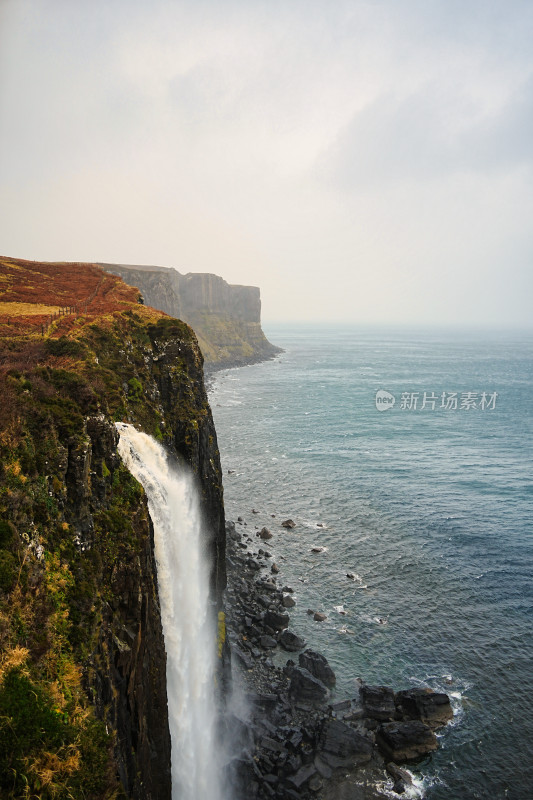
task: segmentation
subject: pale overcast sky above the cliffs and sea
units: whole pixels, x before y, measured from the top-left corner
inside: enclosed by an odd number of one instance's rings
[[[0,0],[0,253],[533,325],[531,0]]]

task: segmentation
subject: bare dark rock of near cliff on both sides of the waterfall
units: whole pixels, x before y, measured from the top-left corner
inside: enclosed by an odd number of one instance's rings
[[[123,358],[142,384],[144,398],[150,398],[159,414],[168,449],[198,478],[209,537],[211,592],[213,601],[220,605],[226,583],[224,508],[201,354],[192,332],[182,323],[162,320],[148,330],[150,344],[147,342],[139,353],[133,341],[126,342]],[[139,419],[141,403],[145,406],[144,399],[131,403],[128,415],[138,427],[144,427]],[[145,412],[146,407],[142,409]],[[91,429],[94,426],[89,426]],[[91,438],[93,452],[107,442],[108,454],[117,458],[114,426],[109,430],[107,422],[100,422],[95,434]],[[112,479],[112,475],[109,477]],[[93,674],[98,706],[102,712],[108,709],[107,716],[118,732],[118,763],[128,796],[159,800],[170,797],[170,741],[157,570],[144,496],[139,524],[139,558],[113,567],[113,600],[106,609],[107,624],[102,626],[99,641],[100,669]]]

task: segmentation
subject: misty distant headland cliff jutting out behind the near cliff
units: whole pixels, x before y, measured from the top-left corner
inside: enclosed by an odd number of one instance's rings
[[[271,358],[280,348],[261,329],[256,286],[232,286],[218,275],[169,267],[100,264],[143,295],[144,302],[187,322],[195,331],[206,367],[233,367]]]

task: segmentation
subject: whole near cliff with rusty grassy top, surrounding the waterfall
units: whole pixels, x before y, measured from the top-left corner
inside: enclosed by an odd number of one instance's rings
[[[191,466],[225,585],[202,355],[97,265],[0,258],[0,794],[170,798],[153,531],[115,421]]]

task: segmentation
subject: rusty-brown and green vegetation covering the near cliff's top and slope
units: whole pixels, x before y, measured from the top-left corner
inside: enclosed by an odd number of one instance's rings
[[[148,524],[142,489],[112,448],[87,457],[88,420],[164,438],[154,350],[191,331],[138,305],[119,278],[102,284],[96,267],[41,267],[0,262],[0,314],[2,302],[12,314],[0,324],[0,795],[110,800],[123,790],[116,732],[95,714],[95,653],[115,565],[135,563]],[[13,319],[12,304],[51,304],[52,294],[78,312],[85,301],[87,313],[44,335],[27,306]],[[173,371],[175,413],[194,438],[187,364]]]

